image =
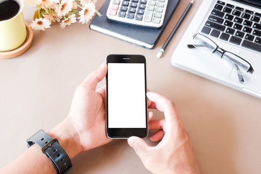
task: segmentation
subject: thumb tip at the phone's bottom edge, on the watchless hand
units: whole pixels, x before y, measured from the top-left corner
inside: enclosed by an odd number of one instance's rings
[[[148,146],[147,143],[139,137],[130,137],[128,139],[128,144],[141,159],[150,149],[150,146]]]

